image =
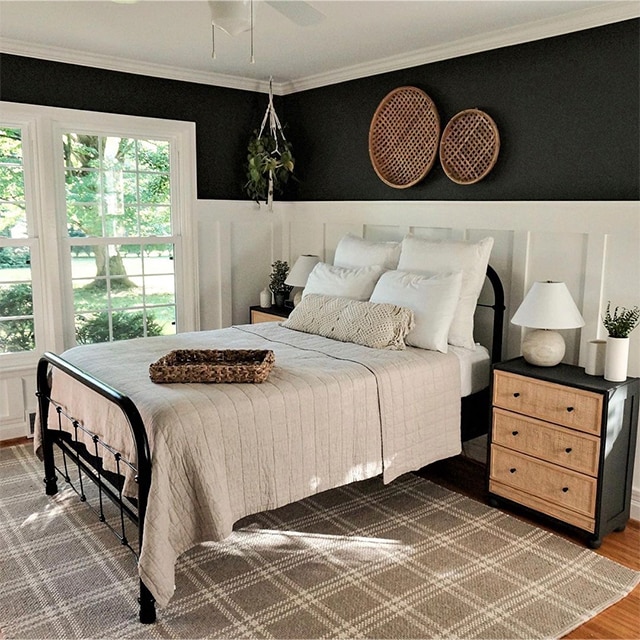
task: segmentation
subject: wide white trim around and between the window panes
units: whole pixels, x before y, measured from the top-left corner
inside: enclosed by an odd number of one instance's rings
[[[63,132],[88,131],[123,136],[161,138],[172,145],[172,215],[175,246],[176,321],[178,329],[200,328],[198,245],[196,238],[195,123],[140,116],[60,109],[0,101],[3,123],[23,130],[27,216],[33,231],[28,243],[34,282],[36,350],[0,354],[2,368],[33,364],[43,351],[60,353],[75,344],[68,318],[69,283],[64,167],[57,150]],[[27,242],[25,242],[27,244]],[[43,286],[41,286],[43,285]],[[65,309],[65,314],[61,312]],[[64,319],[67,317],[65,323]],[[38,321],[39,320],[39,321]]]

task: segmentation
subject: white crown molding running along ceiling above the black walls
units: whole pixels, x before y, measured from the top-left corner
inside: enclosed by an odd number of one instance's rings
[[[299,78],[288,82],[273,83],[273,93],[276,95],[288,95],[308,89],[317,89],[323,86],[357,80],[367,76],[398,71],[432,62],[439,62],[451,58],[458,58],[473,53],[481,53],[492,49],[500,49],[534,40],[551,38],[574,31],[582,31],[594,27],[631,20],[640,17],[640,2],[638,0],[613,0],[606,5],[584,9],[571,15],[539,20],[519,27],[502,29],[482,36],[474,36],[456,40],[446,45],[426,47],[409,54],[391,56],[373,62],[344,67],[337,71],[321,73],[306,78]],[[49,47],[4,38],[0,42],[0,51],[12,55],[25,56],[63,62],[84,67],[95,67],[110,71],[133,73],[138,75],[179,80],[182,82],[194,82],[228,89],[239,89],[268,93],[269,83],[240,76],[207,73],[160,65],[128,58],[117,58],[91,54],[84,51],[66,49],[64,47]]]

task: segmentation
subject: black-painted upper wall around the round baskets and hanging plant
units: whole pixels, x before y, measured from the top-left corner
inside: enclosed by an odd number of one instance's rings
[[[292,94],[276,103],[294,145],[299,200],[640,199],[640,20],[581,31]],[[485,110],[500,130],[493,171],[451,182],[436,162],[420,184],[393,189],[367,140],[392,89],[414,85],[442,128]],[[243,163],[266,96],[206,85],[0,57],[0,99],[196,123],[198,197],[241,199]]]

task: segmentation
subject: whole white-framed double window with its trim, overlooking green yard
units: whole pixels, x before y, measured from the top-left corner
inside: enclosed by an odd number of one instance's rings
[[[193,123],[1,106],[3,364],[196,330]]]

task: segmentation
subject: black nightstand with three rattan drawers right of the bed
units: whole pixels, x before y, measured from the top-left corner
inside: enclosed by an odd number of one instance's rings
[[[639,400],[640,378],[523,358],[494,365],[489,503],[551,516],[598,548],[629,519]]]

